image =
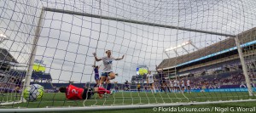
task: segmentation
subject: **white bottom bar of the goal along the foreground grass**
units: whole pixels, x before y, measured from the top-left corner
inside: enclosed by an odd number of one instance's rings
[[[253,102],[256,99],[246,99],[246,100],[226,100],[226,101],[209,101],[209,102],[189,102],[189,103],[172,103],[172,104],[152,104],[152,105],[110,105],[110,106],[86,106],[86,107],[46,107],[46,108],[18,108],[18,109],[3,109],[0,113],[8,112],[50,112],[50,111],[79,111],[79,110],[123,110],[123,109],[142,109],[158,107],[178,107],[178,106],[188,106],[188,105],[206,105],[206,104],[224,104],[224,103],[236,103],[236,102]],[[213,110],[214,111],[214,110]]]

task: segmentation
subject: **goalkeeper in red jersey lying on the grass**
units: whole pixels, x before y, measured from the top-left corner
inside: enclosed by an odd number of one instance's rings
[[[94,93],[112,94],[112,92],[105,88],[77,88],[71,84],[67,87],[59,88],[59,91],[66,93],[67,99],[90,99]]]

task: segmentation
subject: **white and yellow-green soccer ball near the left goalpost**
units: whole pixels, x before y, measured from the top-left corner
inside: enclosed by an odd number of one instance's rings
[[[32,84],[30,87],[25,88],[23,95],[27,101],[36,101],[43,97],[44,87],[39,84]]]

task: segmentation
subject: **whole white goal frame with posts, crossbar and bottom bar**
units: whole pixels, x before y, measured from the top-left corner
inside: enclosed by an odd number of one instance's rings
[[[184,27],[173,26],[173,25],[160,25],[160,24],[137,21],[137,20],[125,20],[125,19],[119,19],[119,18],[114,18],[114,17],[109,17],[109,16],[81,13],[81,12],[69,11],[69,10],[58,9],[58,8],[42,8],[41,9],[41,14],[39,16],[37,29],[35,31],[35,37],[34,37],[33,43],[32,43],[31,57],[30,57],[30,60],[29,60],[29,66],[28,66],[27,71],[26,71],[26,78],[25,78],[26,81],[24,83],[23,90],[24,90],[24,88],[26,88],[26,86],[29,86],[30,82],[31,82],[32,66],[34,64],[35,56],[36,56],[36,53],[37,53],[38,38],[40,36],[42,23],[44,21],[44,13],[46,11],[55,12],[55,13],[62,13],[62,14],[73,14],[73,15],[87,16],[87,17],[92,17],[92,18],[97,18],[97,19],[102,19],[102,20],[114,20],[114,21],[121,21],[121,22],[133,23],[133,24],[138,24],[138,25],[158,26],[158,27],[169,28],[169,29],[177,29],[177,30],[181,30],[181,31],[194,31],[194,32],[212,34],[212,35],[217,35],[217,36],[232,37],[236,40],[236,47],[238,49],[239,58],[241,59],[243,74],[246,78],[246,82],[247,82],[247,86],[248,86],[247,87],[248,94],[250,96],[253,96],[253,90],[252,90],[252,87],[250,85],[249,76],[247,74],[247,66],[245,65],[245,60],[244,60],[242,50],[241,50],[241,43],[238,39],[238,36],[236,36],[236,35],[224,34],[224,33],[219,33],[219,32],[212,32],[212,31],[201,31],[201,30],[195,30],[195,29],[184,28]],[[22,96],[23,96],[23,94],[21,95],[21,97]],[[152,107],[160,107],[160,106],[165,107],[165,106],[181,106],[181,105],[205,105],[205,104],[219,104],[219,103],[247,102],[247,101],[256,101],[256,99],[230,100],[230,101],[212,101],[212,102],[189,102],[189,103],[158,104],[158,105],[152,104],[152,105],[113,105],[113,106],[102,106],[102,107],[86,106],[86,107],[67,107],[67,108],[2,109],[2,110],[0,110],[0,112],[118,110],[118,109],[152,108]],[[12,105],[12,104],[18,104],[18,103],[22,103],[22,102],[26,102],[26,100],[23,99],[23,98],[20,98],[19,102],[10,102],[8,104],[3,103],[3,104],[0,104],[0,105]]]

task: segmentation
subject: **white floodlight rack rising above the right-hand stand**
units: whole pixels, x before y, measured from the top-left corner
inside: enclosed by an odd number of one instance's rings
[[[189,45],[189,44],[192,45],[194,48],[199,49],[189,40],[189,41],[181,43],[180,45],[177,45],[176,47],[166,48],[164,50],[164,52],[166,53],[168,58],[170,58],[170,56],[167,54],[167,52],[173,50],[175,52],[175,54],[177,54],[177,48],[183,48],[187,52],[187,54],[189,54],[189,51],[186,48],[184,48],[184,46]],[[179,56],[179,54],[177,54],[177,56]]]

